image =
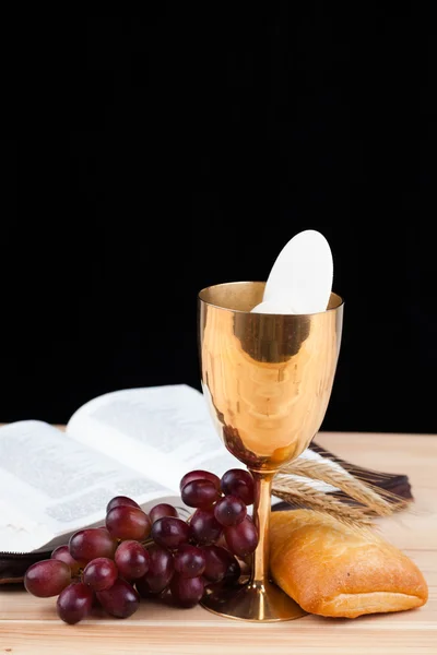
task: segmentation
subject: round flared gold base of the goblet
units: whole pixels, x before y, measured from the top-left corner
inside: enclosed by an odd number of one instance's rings
[[[291,621],[308,614],[271,582],[210,591],[200,604],[209,611],[241,621]]]

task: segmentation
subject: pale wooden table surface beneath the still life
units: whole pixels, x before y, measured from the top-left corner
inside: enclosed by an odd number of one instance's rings
[[[256,624],[201,607],[164,609],[144,602],[126,620],[96,617],[67,626],[56,615],[54,598],[35,598],[10,585],[0,591],[0,654],[436,655],[437,436],[323,432],[317,440],[356,464],[410,476],[412,509],[378,522],[424,573],[429,586],[424,607],[353,620],[306,616]]]

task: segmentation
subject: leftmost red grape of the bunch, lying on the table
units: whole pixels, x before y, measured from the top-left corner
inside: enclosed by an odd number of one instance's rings
[[[39,598],[57,596],[70,582],[70,567],[57,559],[35,562],[24,575],[25,588],[29,594]]]

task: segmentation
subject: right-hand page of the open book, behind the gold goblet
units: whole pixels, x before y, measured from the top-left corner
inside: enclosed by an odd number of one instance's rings
[[[185,384],[107,393],[83,405],[67,431],[127,466],[155,476],[175,493],[189,471],[204,468],[221,477],[229,468],[246,468],[221,441],[203,394]],[[310,450],[300,456],[322,458]],[[303,478],[296,476],[296,480]],[[305,481],[322,491],[334,490],[319,480]]]

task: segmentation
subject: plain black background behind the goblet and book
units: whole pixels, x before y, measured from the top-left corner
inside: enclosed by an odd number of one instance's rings
[[[5,29],[0,420],[200,389],[198,290],[312,228],[345,298],[322,428],[437,432],[426,3],[186,4]]]

